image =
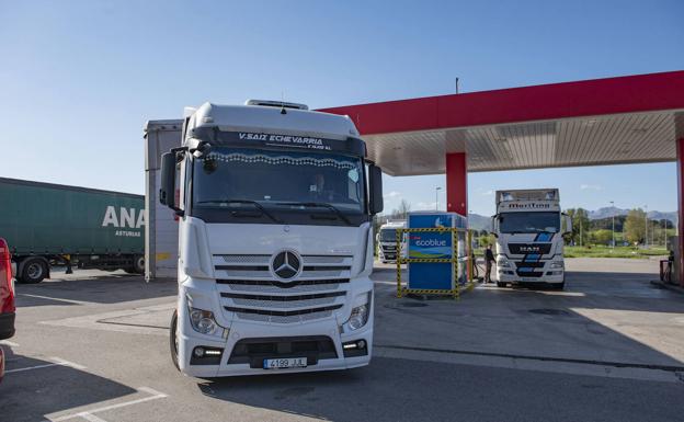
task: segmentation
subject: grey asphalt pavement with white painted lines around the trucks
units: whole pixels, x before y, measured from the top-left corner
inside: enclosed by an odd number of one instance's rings
[[[684,296],[647,260],[569,260],[565,292],[397,299],[378,265],[369,366],[197,379],[169,357],[175,284],[18,286],[0,421],[682,421]]]

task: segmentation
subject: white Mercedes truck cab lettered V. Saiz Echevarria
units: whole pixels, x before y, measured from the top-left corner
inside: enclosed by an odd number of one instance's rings
[[[373,344],[381,171],[346,116],[248,101],[187,110],[161,158],[179,217],[171,354],[196,377],[344,369]]]

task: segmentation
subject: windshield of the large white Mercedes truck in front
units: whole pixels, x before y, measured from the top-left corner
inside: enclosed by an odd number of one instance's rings
[[[363,186],[356,157],[215,147],[195,160],[193,206],[343,217],[364,212]]]

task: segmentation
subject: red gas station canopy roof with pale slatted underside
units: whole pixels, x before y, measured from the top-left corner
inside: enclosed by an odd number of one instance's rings
[[[323,109],[349,115],[391,175],[673,161],[684,71]]]

